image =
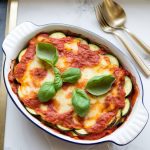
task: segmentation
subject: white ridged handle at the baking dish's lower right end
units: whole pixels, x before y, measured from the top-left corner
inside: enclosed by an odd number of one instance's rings
[[[144,129],[146,126],[149,113],[145,108],[143,101],[138,103],[138,107],[136,108],[135,112],[131,113],[130,115],[134,115],[134,118],[129,116],[129,120],[127,121],[122,127],[116,130],[116,134],[113,137],[111,142],[117,145],[126,145],[133,141]]]

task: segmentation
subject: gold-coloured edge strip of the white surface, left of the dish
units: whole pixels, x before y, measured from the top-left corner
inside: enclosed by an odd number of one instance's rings
[[[5,36],[16,26],[17,12],[18,12],[18,0],[8,0]],[[4,57],[5,56],[3,55],[3,63]],[[6,108],[7,108],[7,92],[4,85],[3,69],[1,73],[2,75],[0,82],[0,150],[3,150],[4,136],[5,136]]]

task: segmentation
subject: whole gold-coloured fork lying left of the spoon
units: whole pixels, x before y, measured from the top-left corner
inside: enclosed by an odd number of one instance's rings
[[[131,56],[134,58],[134,60],[138,63],[139,67],[144,71],[144,73],[147,76],[150,76],[150,68],[143,62],[143,60],[135,53],[135,51],[130,48],[125,40],[116,32],[116,30],[112,27],[110,27],[107,22],[104,20],[103,15],[101,13],[101,5],[98,4],[95,6],[95,13],[97,20],[102,28],[102,30],[106,33],[114,34],[125,46],[125,48],[128,50],[128,52],[131,54]]]

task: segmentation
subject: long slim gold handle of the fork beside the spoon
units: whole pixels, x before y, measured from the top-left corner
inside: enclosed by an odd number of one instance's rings
[[[146,66],[146,64],[143,62],[143,60],[135,53],[135,51],[130,48],[126,42],[124,41],[124,39],[116,32],[113,32],[113,34],[122,42],[122,44],[126,47],[126,49],[128,50],[128,52],[132,55],[132,57],[134,58],[134,60],[138,63],[138,65],[140,66],[140,68],[144,71],[144,73],[147,76],[150,76],[150,69],[148,68],[148,66]]]

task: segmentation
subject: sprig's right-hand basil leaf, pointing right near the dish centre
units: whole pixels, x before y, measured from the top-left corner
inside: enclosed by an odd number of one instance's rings
[[[62,74],[63,82],[75,83],[81,77],[79,68],[70,68]]]

